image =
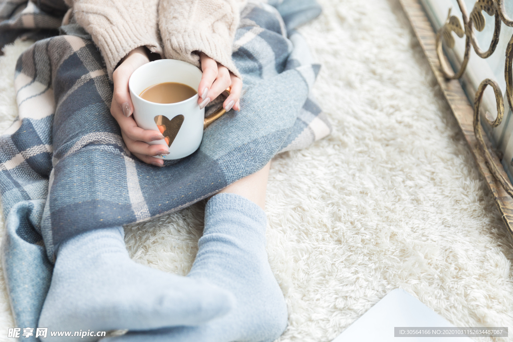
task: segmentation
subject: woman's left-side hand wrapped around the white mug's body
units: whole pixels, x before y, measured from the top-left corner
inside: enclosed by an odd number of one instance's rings
[[[155,155],[169,154],[166,145],[149,145],[149,142],[164,139],[160,131],[144,130],[137,126],[133,119],[133,104],[128,90],[128,80],[135,69],[150,60],[144,47],[132,50],[114,70],[114,95],[110,105],[110,113],[121,128],[121,136],[128,150],[147,164],[163,166],[164,160],[154,158]]]

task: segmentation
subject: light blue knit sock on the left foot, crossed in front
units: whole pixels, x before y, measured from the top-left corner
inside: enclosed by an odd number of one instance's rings
[[[207,281],[136,264],[122,227],[96,229],[60,247],[39,327],[74,332],[191,326],[226,314],[233,300]]]

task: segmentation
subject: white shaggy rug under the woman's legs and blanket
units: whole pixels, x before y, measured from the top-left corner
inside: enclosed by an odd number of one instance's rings
[[[314,93],[334,130],[276,157],[267,194],[267,250],[289,310],[279,340],[329,341],[398,287],[456,326],[512,336],[512,240],[398,1],[320,3],[301,32],[323,65]],[[0,130],[26,47],[0,57]],[[186,274],[203,209],[127,227],[130,254]],[[12,326],[2,279],[1,339]]]

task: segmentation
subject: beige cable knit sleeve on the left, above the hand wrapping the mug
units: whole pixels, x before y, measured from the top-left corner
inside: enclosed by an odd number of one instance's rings
[[[158,27],[159,0],[66,0],[73,16],[100,48],[109,78],[121,59],[146,46],[162,55]]]

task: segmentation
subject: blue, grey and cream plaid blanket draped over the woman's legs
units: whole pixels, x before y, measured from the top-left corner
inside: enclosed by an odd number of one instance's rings
[[[0,136],[2,260],[18,327],[37,326],[55,251],[65,239],[180,210],[258,171],[275,154],[329,134],[310,94],[320,66],[294,31],[320,7],[314,0],[272,5],[250,2],[236,32],[241,111],[216,120],[198,151],[162,168],[126,149],[110,115],[112,84],[102,56],[80,27],[61,27],[66,35],[40,40],[19,57],[18,117]],[[0,28],[37,24],[27,20],[30,13],[46,15],[33,3],[24,6]]]

